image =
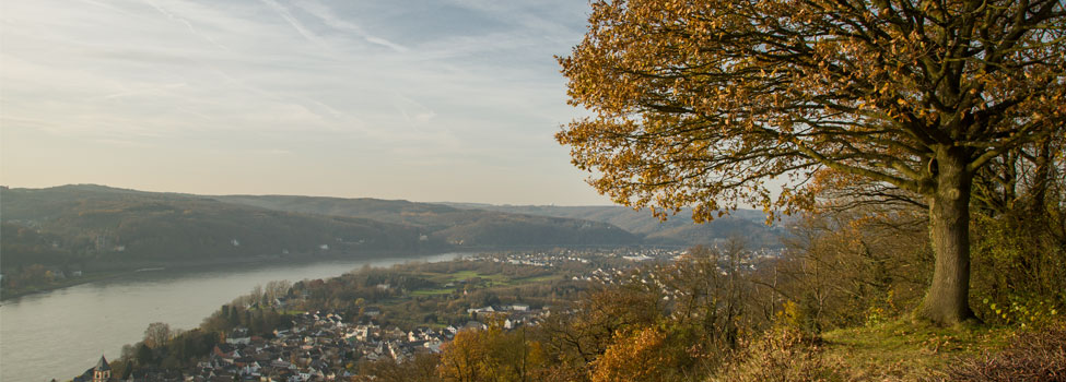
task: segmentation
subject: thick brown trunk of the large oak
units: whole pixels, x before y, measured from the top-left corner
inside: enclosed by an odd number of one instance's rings
[[[918,315],[937,324],[974,318],[970,310],[969,156],[960,147],[937,152],[937,186],[929,198],[929,229],[936,266]]]

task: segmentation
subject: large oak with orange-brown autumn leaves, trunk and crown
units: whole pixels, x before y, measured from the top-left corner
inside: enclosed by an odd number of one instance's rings
[[[918,313],[972,317],[975,174],[1066,130],[1063,1],[591,5],[560,59],[591,115],[557,139],[600,192],[659,215],[693,206],[696,220],[739,203],[809,207],[819,171],[921,195],[936,264]]]

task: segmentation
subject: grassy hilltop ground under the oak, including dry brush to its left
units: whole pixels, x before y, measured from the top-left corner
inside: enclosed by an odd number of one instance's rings
[[[963,360],[1004,348],[1008,350],[997,359],[1017,358],[1018,353],[1007,347],[1014,333],[1007,327],[937,327],[909,320],[832,331],[817,338],[777,330],[748,344],[711,381],[953,381],[962,375],[956,366],[969,365]],[[1046,379],[1000,381],[1016,380]]]

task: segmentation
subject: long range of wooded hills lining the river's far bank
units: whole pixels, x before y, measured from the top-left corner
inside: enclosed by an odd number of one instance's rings
[[[641,242],[604,223],[407,201],[209,196],[97,184],[2,188],[0,222],[0,267],[7,270]]]

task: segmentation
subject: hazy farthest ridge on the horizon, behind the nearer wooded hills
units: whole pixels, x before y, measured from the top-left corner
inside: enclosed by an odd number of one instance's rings
[[[549,237],[559,242],[584,244],[597,243],[596,238],[604,236],[622,244],[640,240],[646,244],[696,246],[742,236],[753,247],[777,247],[782,235],[782,229],[765,225],[764,213],[752,210],[739,210],[713,222],[695,224],[691,210],[682,210],[664,222],[647,211],[622,206],[434,204],[286,195],[213,198],[272,210],[410,224],[440,230],[442,238],[449,242],[479,244],[535,244]]]

